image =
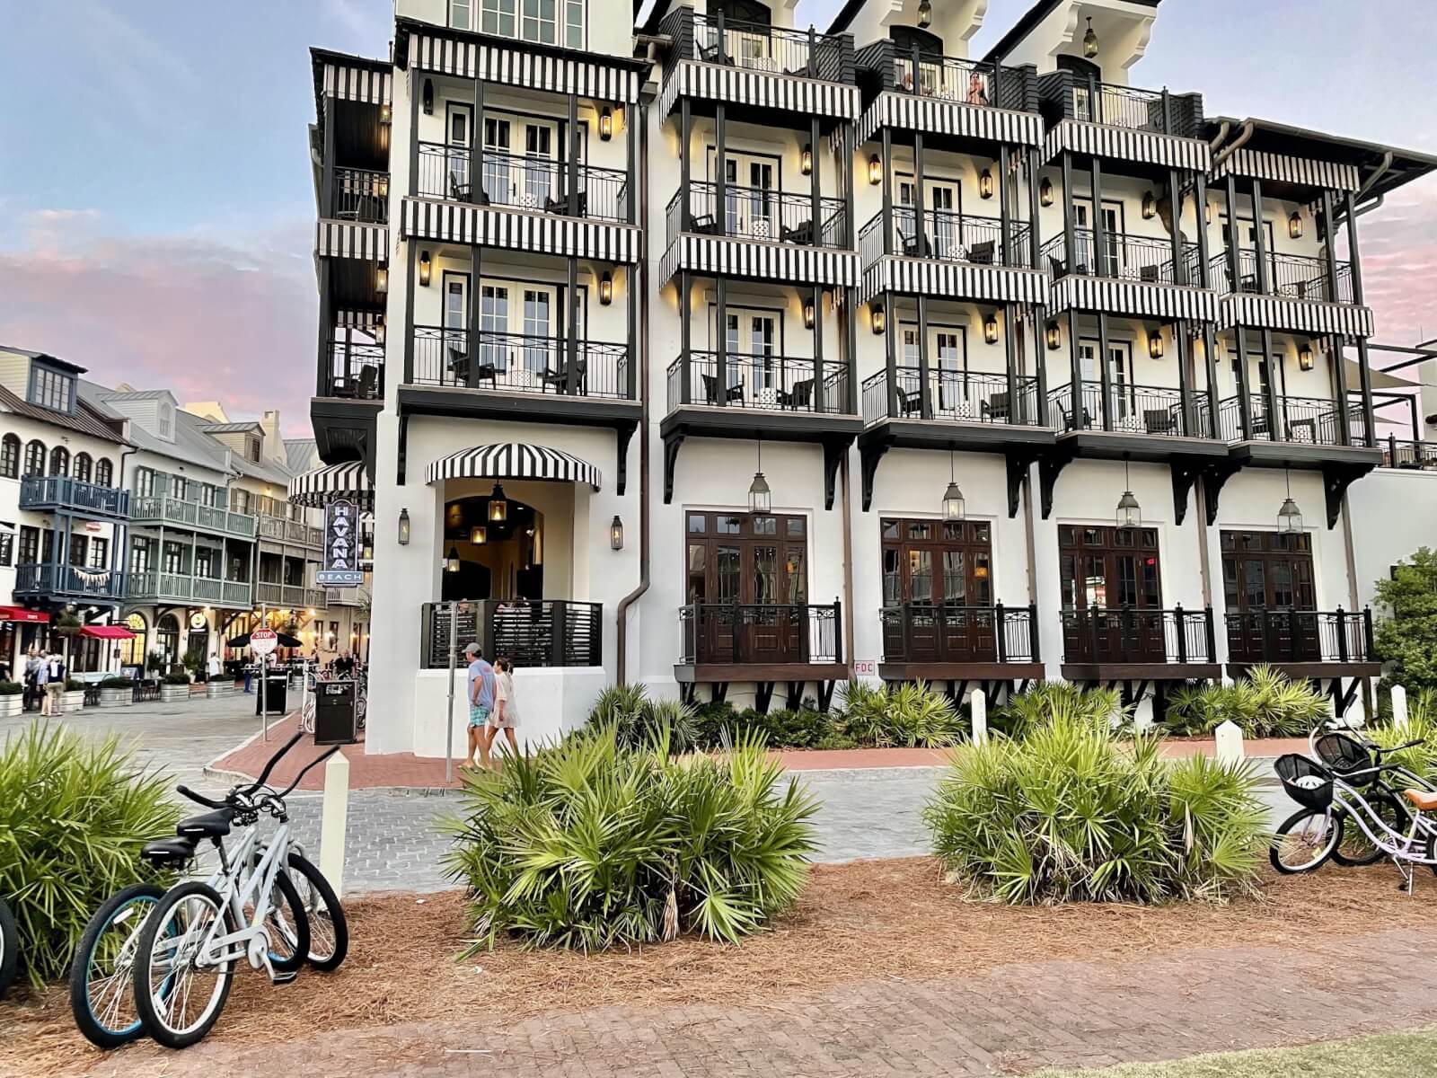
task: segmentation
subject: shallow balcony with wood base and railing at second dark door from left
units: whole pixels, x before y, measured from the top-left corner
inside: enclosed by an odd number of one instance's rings
[[[885,681],[948,681],[961,699],[967,681],[993,687],[1043,676],[1036,607],[905,602],[878,617]]]

